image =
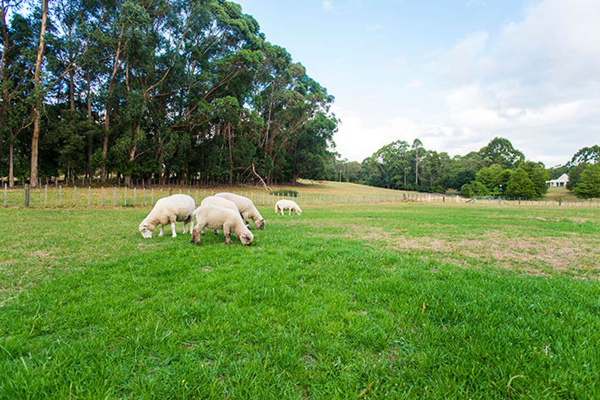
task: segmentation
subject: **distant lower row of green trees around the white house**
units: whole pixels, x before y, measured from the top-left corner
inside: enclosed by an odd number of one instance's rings
[[[327,166],[326,178],[421,192],[444,193],[453,189],[467,197],[537,199],[547,193],[546,181],[562,173],[569,174],[568,188],[573,190],[581,172],[590,164],[598,165],[599,157],[599,146],[583,148],[565,166],[546,169],[542,163],[526,161],[523,152],[501,137],[479,151],[454,157],[425,149],[419,139],[412,144],[398,140],[383,146],[362,163],[332,161]]]

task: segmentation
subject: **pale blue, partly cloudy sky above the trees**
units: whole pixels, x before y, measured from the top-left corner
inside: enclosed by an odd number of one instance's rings
[[[395,140],[452,157],[500,136],[551,167],[600,143],[598,0],[236,2],[334,95],[349,161]]]

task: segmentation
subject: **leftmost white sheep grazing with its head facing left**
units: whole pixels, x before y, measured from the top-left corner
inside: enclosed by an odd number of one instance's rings
[[[160,224],[160,233],[163,236],[163,228],[166,224],[171,224],[173,237],[175,233],[175,221],[184,222],[184,232],[187,232],[187,224],[190,224],[190,233],[194,227],[194,209],[196,202],[187,194],[173,194],[173,196],[158,199],[152,211],[140,222],[139,230],[145,239],[152,237],[152,232],[156,225]]]

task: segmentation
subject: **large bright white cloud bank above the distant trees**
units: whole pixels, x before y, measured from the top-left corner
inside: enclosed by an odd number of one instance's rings
[[[386,143],[419,137],[429,149],[464,155],[502,136],[531,160],[565,163],[600,140],[599,20],[597,0],[545,0],[493,35],[467,34],[432,53],[420,71],[427,88],[420,79],[405,84],[410,106],[393,97],[364,102],[371,114],[394,110],[377,118],[360,107],[338,109],[337,151],[362,161]],[[398,56],[380,68],[414,69],[410,63]]]

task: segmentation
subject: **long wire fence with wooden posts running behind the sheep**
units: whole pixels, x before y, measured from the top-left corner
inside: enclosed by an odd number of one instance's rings
[[[49,187],[8,189],[4,185],[4,207],[149,207],[158,199],[172,194],[187,194],[199,204],[202,199],[219,193],[218,189],[199,188],[122,188],[122,187]],[[599,200],[520,200],[499,197],[473,197],[441,193],[415,193],[398,191],[395,194],[335,194],[299,193],[297,196],[280,196],[263,190],[232,191],[248,197],[257,206],[271,206],[280,199],[293,199],[299,204],[370,204],[400,203],[482,203],[518,204],[521,206],[600,207]]]

